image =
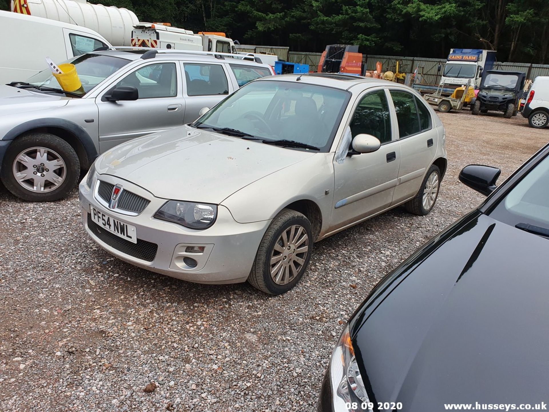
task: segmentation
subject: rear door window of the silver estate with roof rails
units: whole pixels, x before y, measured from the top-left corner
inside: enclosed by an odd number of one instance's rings
[[[229,83],[220,64],[184,63],[188,96],[229,94]]]

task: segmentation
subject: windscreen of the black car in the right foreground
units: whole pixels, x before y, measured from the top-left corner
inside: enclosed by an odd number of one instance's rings
[[[549,230],[549,155],[531,169],[489,214],[508,225],[528,224]]]

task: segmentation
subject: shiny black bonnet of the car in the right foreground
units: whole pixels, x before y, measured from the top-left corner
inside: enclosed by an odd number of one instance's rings
[[[548,246],[474,212],[386,276],[350,326],[373,397],[407,411],[546,402]]]

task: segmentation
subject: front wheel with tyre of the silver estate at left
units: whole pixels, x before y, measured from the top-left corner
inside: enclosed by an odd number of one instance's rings
[[[27,170],[29,173],[25,176],[29,179],[16,178],[16,174]],[[48,177],[51,180],[47,180]],[[79,177],[80,161],[74,149],[63,139],[43,132],[16,138],[9,145],[0,170],[4,186],[16,197],[29,202],[63,199]]]

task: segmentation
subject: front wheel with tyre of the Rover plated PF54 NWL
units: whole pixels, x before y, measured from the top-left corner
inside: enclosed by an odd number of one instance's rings
[[[311,222],[304,214],[282,209],[263,236],[248,282],[268,294],[282,294],[301,279],[311,257]]]

